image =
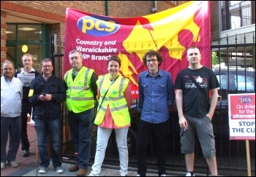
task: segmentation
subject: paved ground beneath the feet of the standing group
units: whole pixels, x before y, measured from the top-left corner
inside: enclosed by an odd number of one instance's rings
[[[49,167],[47,168],[47,172],[45,174],[38,173],[39,170],[39,162],[36,160],[36,151],[37,151],[37,134],[34,130],[34,127],[28,125],[27,127],[29,142],[30,142],[30,155],[29,157],[23,157],[21,146],[16,155],[16,162],[18,162],[18,167],[12,168],[10,165],[6,165],[4,169],[1,169],[1,176],[76,176],[77,172],[69,172],[69,166],[74,164],[75,162],[72,160],[64,160],[62,163],[62,168],[64,169],[64,173],[56,173],[53,168],[52,163],[50,162]],[[8,149],[9,143],[7,143]],[[86,173],[86,176],[91,172],[92,162],[89,163],[89,169]],[[136,176],[137,168],[129,168],[128,176]],[[167,176],[184,176],[184,172],[178,171],[167,171]],[[120,176],[118,165],[105,165],[103,163],[102,170],[99,176]],[[148,168],[148,173],[146,176],[158,176],[157,170]],[[206,176],[206,174],[196,173],[196,176]]]

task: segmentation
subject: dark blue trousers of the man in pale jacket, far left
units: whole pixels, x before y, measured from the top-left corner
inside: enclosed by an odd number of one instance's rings
[[[21,118],[18,117],[1,117],[1,162],[12,162],[16,159],[16,154],[20,146]],[[9,138],[9,148],[7,141]]]

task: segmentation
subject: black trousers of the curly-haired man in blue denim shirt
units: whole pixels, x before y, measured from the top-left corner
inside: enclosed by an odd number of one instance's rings
[[[137,159],[138,174],[146,176],[146,150],[148,144],[154,138],[157,147],[157,166],[159,176],[165,174],[167,155],[167,122],[153,124],[140,120],[138,124]]]

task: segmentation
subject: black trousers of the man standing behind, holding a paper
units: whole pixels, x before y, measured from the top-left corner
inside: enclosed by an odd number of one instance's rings
[[[21,110],[21,134],[20,134],[20,143],[22,150],[29,150],[29,138],[27,133],[27,122],[28,117],[27,114],[31,115],[31,103],[29,101],[22,102],[22,110]]]

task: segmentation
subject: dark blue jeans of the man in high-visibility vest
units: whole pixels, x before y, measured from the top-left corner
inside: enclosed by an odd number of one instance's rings
[[[94,108],[80,113],[68,112],[70,135],[75,152],[78,152],[76,160],[78,168],[87,169],[91,157],[91,136],[92,119],[94,117]]]

